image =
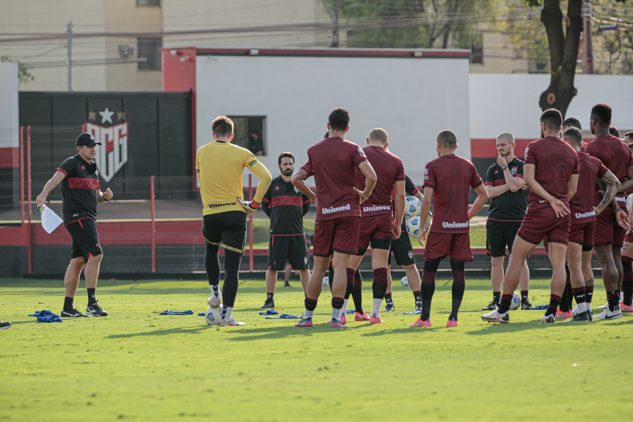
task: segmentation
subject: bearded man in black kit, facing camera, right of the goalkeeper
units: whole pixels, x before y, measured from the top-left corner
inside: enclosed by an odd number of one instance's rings
[[[268,271],[266,271],[266,302],[263,308],[275,307],[277,271],[284,271],[285,261],[299,270],[301,286],[307,293],[310,279],[310,255],[303,230],[303,216],[310,209],[311,199],[292,185],[294,154],[282,152],[277,160],[281,174],[270,182],[261,200],[261,207],[270,217],[268,240]]]

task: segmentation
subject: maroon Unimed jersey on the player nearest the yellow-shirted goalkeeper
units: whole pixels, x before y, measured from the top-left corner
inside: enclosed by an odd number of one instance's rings
[[[360,202],[354,186],[356,166],[363,161],[367,161],[365,152],[341,137],[323,139],[308,148],[308,161],[301,168],[308,177],[315,177],[316,220],[360,217]]]

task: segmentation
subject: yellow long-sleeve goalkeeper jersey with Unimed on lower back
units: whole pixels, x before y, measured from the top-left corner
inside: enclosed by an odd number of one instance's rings
[[[260,178],[254,201],[268,190],[272,177],[264,164],[242,147],[227,142],[210,142],[200,147],[196,153],[196,170],[200,181],[200,194],[203,202],[203,215],[224,213],[226,211],[244,211],[237,202],[243,199],[242,170],[247,167]]]

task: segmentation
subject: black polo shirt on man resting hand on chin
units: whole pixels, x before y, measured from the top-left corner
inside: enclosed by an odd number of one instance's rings
[[[523,161],[515,157],[508,164],[510,174],[523,178]],[[488,168],[486,174],[486,186],[501,186],[506,184],[506,178],[499,164],[494,163]],[[488,220],[499,221],[523,221],[527,211],[528,190],[519,189],[517,192],[508,190],[490,200]]]

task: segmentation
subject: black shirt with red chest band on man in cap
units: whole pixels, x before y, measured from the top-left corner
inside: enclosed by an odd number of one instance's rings
[[[76,154],[66,158],[56,169],[64,173],[61,181],[61,204],[64,225],[82,218],[97,220],[99,169]]]

